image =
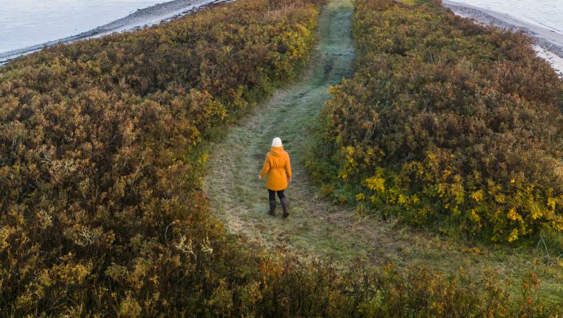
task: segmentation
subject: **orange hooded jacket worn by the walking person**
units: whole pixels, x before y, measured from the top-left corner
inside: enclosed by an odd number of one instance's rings
[[[266,155],[264,168],[260,173],[260,178],[266,179],[266,187],[273,191],[281,191],[286,189],[288,178],[291,178],[291,165],[289,163],[289,154],[284,151],[284,147],[272,147],[272,151]]]

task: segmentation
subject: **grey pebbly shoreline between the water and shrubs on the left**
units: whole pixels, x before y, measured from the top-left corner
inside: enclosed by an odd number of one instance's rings
[[[71,35],[70,37],[64,37],[62,39],[47,41],[41,44],[36,44],[34,46],[28,46],[26,48],[0,52],[0,66],[7,64],[12,59],[20,57],[22,55],[28,55],[37,52],[42,48],[53,46],[57,43],[62,42],[64,44],[69,44],[83,39],[102,37],[114,32],[138,30],[147,26],[154,26],[156,24],[161,24],[173,19],[178,19],[180,17],[183,17],[184,15],[190,14],[208,6],[213,6],[217,3],[230,1],[233,0],[172,0],[164,3],[157,3],[154,6],[136,10],[135,12],[131,13],[131,15],[127,15],[126,17],[122,17],[115,21],[111,21],[108,24],[98,26],[86,32],[81,32],[77,35]]]

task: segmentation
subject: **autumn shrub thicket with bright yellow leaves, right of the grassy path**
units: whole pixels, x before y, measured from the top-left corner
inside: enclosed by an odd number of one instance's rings
[[[325,191],[492,241],[561,232],[563,82],[530,40],[437,1],[356,5],[356,73],[323,114],[333,156],[310,162]]]

